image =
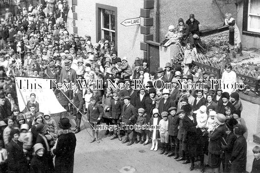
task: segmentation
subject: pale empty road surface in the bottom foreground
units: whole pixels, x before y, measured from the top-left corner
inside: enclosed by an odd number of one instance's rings
[[[72,128],[75,127],[72,116],[69,118]],[[54,119],[59,121],[58,116],[55,116]],[[100,131],[99,144],[97,142],[89,143],[92,139],[91,129],[85,120],[84,123],[87,130],[81,122],[82,131],[76,134],[74,173],[120,173],[126,166],[136,173],[190,173],[190,164],[183,165],[173,157],[160,155],[160,150],[150,151],[151,143],[146,146],[140,144],[126,146],[126,144],[121,144],[118,139],[110,140],[110,135],[104,135],[105,130]],[[252,149],[256,145],[253,142],[247,142],[247,171],[249,172],[254,159]],[[207,160],[206,157],[205,160]],[[199,168],[200,162],[198,161],[195,163],[195,170],[192,173],[200,173]],[[122,173],[133,173],[131,171],[126,169]],[[206,169],[205,173],[210,173],[210,170]]]

